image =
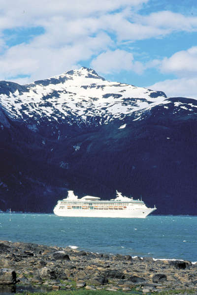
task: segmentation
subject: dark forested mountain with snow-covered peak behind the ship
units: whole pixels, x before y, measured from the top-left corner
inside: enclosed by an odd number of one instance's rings
[[[0,209],[52,212],[67,189],[118,189],[161,214],[197,214],[197,100],[82,67],[0,82]]]

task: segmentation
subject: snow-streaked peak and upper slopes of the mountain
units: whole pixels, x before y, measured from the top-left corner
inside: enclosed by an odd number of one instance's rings
[[[15,119],[97,123],[133,114],[140,118],[142,111],[159,104],[168,104],[162,91],[109,82],[92,69],[80,68],[33,84],[20,86],[0,82],[0,103]]]

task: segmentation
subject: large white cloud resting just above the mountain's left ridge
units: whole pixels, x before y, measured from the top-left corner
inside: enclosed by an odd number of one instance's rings
[[[102,32],[96,37],[84,36],[83,41],[56,48],[48,46],[50,41],[46,36],[39,36],[30,44],[13,46],[0,56],[0,79],[31,75],[29,80],[34,81],[58,75],[112,44],[109,36]]]

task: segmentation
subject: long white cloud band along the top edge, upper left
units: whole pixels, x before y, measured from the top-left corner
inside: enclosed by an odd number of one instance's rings
[[[146,2],[148,0],[1,0],[0,29],[44,25],[54,16],[66,20],[80,19],[92,14],[98,16]]]

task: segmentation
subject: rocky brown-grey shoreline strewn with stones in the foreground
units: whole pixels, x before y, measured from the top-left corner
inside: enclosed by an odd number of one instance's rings
[[[193,289],[197,264],[151,257],[97,254],[69,247],[0,241],[0,285],[143,293]]]

